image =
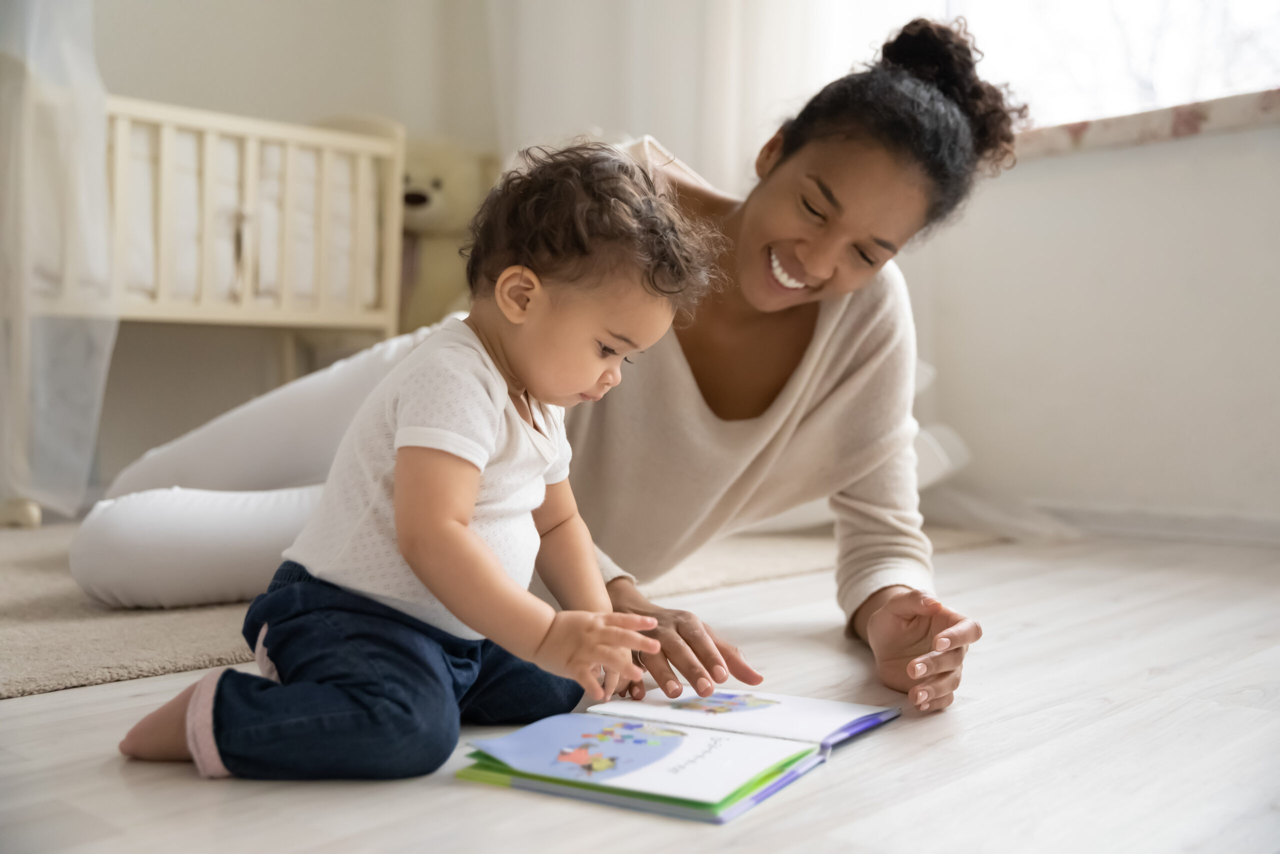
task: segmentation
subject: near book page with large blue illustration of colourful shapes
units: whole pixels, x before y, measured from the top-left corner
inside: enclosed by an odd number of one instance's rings
[[[806,750],[795,741],[603,714],[557,714],[471,745],[525,773],[707,804]]]

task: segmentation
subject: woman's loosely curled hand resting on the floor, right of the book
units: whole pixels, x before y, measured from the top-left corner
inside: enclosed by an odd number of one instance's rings
[[[969,644],[982,626],[928,593],[878,590],[854,615],[854,631],[876,654],[881,681],[906,693],[922,712],[951,705]]]

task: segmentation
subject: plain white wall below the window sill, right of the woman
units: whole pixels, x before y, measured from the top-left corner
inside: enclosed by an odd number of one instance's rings
[[[1024,163],[902,266],[961,483],[1280,524],[1280,128]]]

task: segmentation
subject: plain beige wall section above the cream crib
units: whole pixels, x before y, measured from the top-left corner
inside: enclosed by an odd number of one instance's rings
[[[480,4],[448,0],[97,0],[96,47],[116,95],[282,122],[385,115],[410,133],[493,141]],[[476,50],[476,47],[480,50]]]

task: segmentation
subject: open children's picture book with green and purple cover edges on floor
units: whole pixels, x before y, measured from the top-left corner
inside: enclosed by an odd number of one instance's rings
[[[458,777],[724,823],[899,714],[759,691],[650,691],[476,739]]]

